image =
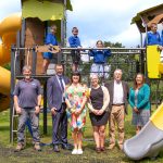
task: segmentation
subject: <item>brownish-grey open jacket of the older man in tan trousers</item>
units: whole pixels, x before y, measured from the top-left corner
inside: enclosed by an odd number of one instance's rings
[[[126,82],[122,82],[122,86],[123,86],[123,90],[124,90],[125,113],[127,114],[129,87]],[[109,93],[110,93],[109,110],[111,112],[112,104],[113,104],[113,97],[114,97],[114,80],[111,80],[110,83],[105,84],[105,87],[108,88]]]

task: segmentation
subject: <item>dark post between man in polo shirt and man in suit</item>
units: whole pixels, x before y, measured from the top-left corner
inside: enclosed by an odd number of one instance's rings
[[[47,134],[47,80],[43,84],[43,134]]]

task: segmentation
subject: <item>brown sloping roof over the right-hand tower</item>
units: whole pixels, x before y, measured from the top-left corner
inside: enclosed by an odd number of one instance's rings
[[[135,17],[131,20],[131,24],[136,23],[137,27],[139,28],[140,33],[145,33],[145,26],[148,27],[151,23],[161,23],[163,21],[163,4],[147,9],[137,13]]]

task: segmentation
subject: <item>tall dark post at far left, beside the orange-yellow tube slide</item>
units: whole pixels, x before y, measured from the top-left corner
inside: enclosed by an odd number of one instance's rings
[[[14,47],[14,46],[12,46]],[[12,122],[12,116],[13,116],[13,91],[15,87],[15,67],[14,67],[14,61],[15,61],[15,53],[14,51],[11,51],[11,89],[10,89],[10,142],[13,142],[13,122]]]

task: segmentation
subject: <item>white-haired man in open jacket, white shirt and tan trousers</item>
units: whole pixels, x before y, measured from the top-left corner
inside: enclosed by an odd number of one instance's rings
[[[127,83],[122,80],[122,70],[115,70],[114,80],[105,84],[110,92],[110,146],[108,149],[113,149],[115,147],[115,124],[117,124],[118,147],[121,150],[124,142],[124,117],[125,113],[127,113],[127,97],[129,89]]]

